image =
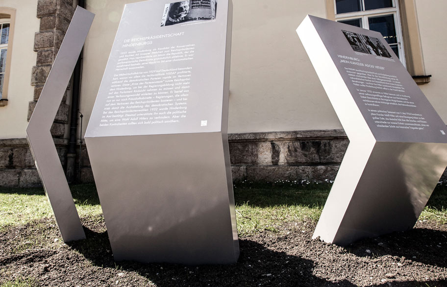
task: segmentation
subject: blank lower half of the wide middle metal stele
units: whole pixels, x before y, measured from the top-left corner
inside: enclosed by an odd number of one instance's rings
[[[219,132],[86,138],[115,260],[237,261],[225,141]]]

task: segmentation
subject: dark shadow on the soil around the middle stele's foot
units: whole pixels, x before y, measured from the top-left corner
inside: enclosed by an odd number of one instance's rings
[[[315,262],[268,249],[240,239],[240,257],[235,264],[183,265],[172,263],[115,262],[107,232],[84,227],[87,239],[68,244],[99,267],[136,272],[157,286],[302,286],[354,287],[347,280],[331,282],[312,274]]]

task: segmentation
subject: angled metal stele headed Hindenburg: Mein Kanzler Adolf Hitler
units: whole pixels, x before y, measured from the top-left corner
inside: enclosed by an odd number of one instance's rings
[[[383,36],[307,16],[297,29],[349,138],[313,238],[411,229],[447,166],[447,129]]]

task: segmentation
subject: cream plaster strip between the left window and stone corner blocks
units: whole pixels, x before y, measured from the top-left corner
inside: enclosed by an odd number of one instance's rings
[[[31,70],[36,65],[34,33],[39,31],[36,0],[0,0],[0,7],[16,9],[8,104],[0,107],[0,139],[25,138],[28,102],[32,101]]]

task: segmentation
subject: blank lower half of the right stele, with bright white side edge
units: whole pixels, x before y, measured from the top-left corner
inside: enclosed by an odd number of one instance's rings
[[[446,153],[447,144],[351,141],[313,238],[347,245],[413,228]]]

